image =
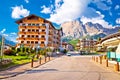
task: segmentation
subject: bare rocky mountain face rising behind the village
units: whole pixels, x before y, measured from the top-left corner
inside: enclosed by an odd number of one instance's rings
[[[82,38],[87,35],[109,35],[120,30],[120,27],[104,28],[98,23],[93,24],[91,22],[87,22],[83,25],[79,20],[63,23],[61,27],[63,28],[64,37],[72,37],[74,39]]]

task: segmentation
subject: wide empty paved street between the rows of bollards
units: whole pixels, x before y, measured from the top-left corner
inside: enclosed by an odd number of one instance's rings
[[[98,66],[89,56],[73,55],[4,80],[120,80],[120,75]]]

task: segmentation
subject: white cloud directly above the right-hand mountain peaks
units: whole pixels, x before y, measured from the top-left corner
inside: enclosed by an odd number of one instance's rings
[[[87,23],[87,22],[92,22],[92,23],[99,23],[101,24],[103,27],[106,28],[112,28],[112,25],[109,25],[108,22],[106,22],[103,18],[104,15],[101,14],[99,11],[96,11],[96,13],[99,14],[99,17],[93,17],[93,18],[87,18],[87,17],[81,17],[81,21],[83,22],[83,24]]]

